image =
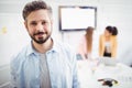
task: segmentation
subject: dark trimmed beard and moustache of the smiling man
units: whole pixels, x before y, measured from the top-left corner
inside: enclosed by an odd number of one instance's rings
[[[36,35],[40,35],[40,34],[46,34],[45,37],[41,36],[41,37],[35,37]],[[51,37],[51,33],[47,33],[47,32],[37,32],[37,33],[34,33],[33,35],[31,35],[31,38],[37,43],[37,44],[43,44],[45,43],[50,37]]]

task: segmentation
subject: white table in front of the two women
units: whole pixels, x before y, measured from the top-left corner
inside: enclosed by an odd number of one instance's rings
[[[116,66],[97,65],[97,61],[78,61],[78,77],[81,88],[132,88],[132,68],[121,63]],[[98,79],[118,80],[112,87],[102,86]]]

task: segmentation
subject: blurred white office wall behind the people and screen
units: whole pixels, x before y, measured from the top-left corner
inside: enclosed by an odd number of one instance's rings
[[[23,24],[22,9],[32,0],[0,0],[0,88],[9,85],[10,59],[30,42]],[[61,31],[59,6],[96,7],[92,57],[98,57],[99,35],[107,25],[118,28],[118,56],[121,63],[132,65],[132,0],[46,0],[53,8],[53,36],[76,51],[85,30]],[[69,16],[70,13],[67,13]],[[86,23],[84,21],[84,23]],[[87,26],[86,26],[87,28]]]

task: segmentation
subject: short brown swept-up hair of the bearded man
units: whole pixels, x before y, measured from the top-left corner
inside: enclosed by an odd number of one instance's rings
[[[26,20],[28,15],[33,12],[33,11],[36,11],[36,10],[41,10],[41,9],[44,9],[44,10],[47,10],[51,18],[52,18],[52,8],[50,6],[46,4],[46,2],[42,1],[42,0],[35,0],[35,1],[32,1],[32,2],[29,2],[25,4],[24,9],[23,9],[23,19]]]

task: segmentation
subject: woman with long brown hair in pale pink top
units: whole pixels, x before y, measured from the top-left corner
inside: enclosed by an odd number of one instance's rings
[[[81,41],[79,43],[77,54],[79,54],[82,59],[91,58],[92,34],[94,34],[94,28],[88,26],[86,30],[86,34],[81,37]]]

